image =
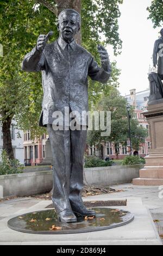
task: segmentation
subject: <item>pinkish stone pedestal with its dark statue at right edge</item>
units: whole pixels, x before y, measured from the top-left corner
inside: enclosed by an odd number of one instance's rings
[[[134,185],[163,185],[163,29],[160,34],[153,51],[153,65],[158,65],[158,72],[149,74],[149,102],[143,113],[149,123],[151,149],[145,157],[145,167],[140,170],[140,178],[133,179]]]

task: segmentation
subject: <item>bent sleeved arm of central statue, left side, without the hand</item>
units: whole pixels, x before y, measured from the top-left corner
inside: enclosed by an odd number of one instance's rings
[[[36,47],[26,54],[22,62],[22,70],[28,72],[36,72],[45,68],[45,54],[38,51]]]

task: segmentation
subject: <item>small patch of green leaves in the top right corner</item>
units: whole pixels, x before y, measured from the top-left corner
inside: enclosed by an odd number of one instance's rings
[[[147,8],[149,11],[148,19],[153,22],[153,27],[161,27],[163,25],[163,3],[162,0],[152,0],[151,6]]]

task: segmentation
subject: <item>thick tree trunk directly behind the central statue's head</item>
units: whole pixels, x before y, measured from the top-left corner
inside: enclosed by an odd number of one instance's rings
[[[81,0],[55,0],[57,3],[58,8],[58,14],[64,9],[74,9],[78,11],[79,14],[81,14]],[[78,32],[78,34],[75,36],[77,44],[82,44],[82,31]]]

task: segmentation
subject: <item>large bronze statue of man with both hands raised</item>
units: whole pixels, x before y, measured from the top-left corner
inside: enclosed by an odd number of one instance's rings
[[[56,129],[54,113],[61,112],[65,118],[65,108],[81,115],[86,112],[87,76],[106,83],[111,68],[103,46],[98,46],[102,62],[102,67],[99,67],[92,55],[74,41],[74,35],[80,29],[77,11],[62,11],[58,17],[58,29],[59,38],[51,44],[47,44],[49,35],[39,36],[37,45],[24,57],[22,69],[42,71],[43,101],[39,124],[47,126],[52,147],[52,200],[60,221],[76,222],[78,215],[95,215],[94,211],[85,208],[81,196],[87,129],[79,129],[82,121],[76,115],[73,118],[78,129],[68,129],[69,124],[65,124],[64,129]]]

